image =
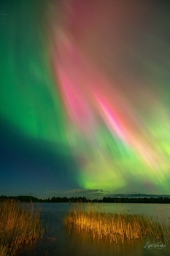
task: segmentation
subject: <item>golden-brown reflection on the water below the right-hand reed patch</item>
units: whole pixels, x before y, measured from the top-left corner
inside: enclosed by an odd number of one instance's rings
[[[146,244],[163,244],[163,241],[157,241],[155,238],[136,239],[119,241],[117,244],[109,243],[107,239],[93,239],[88,233],[78,232],[77,230],[69,230],[70,243],[72,247],[77,247],[80,256],[169,256],[169,248],[158,248],[158,246],[150,247]],[[164,244],[163,244],[164,245]]]

